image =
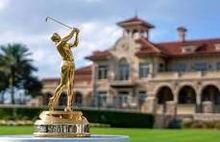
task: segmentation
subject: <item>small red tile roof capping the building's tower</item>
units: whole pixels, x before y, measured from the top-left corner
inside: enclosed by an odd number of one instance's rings
[[[143,25],[147,28],[154,28],[155,27],[154,25],[138,18],[137,16],[130,18],[130,19],[127,19],[127,20],[124,20],[124,21],[121,21],[121,22],[118,22],[117,24],[121,27],[130,26],[130,25]]]

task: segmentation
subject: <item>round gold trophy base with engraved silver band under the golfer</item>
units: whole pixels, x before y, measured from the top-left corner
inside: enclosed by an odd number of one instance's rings
[[[34,123],[36,137],[88,137],[89,122],[80,111],[43,111]]]

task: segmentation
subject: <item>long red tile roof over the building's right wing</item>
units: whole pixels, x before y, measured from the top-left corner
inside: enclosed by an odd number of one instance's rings
[[[152,49],[149,50],[147,47],[147,40],[144,42],[143,38],[138,39],[137,42],[142,45],[140,51],[136,53],[137,56],[145,55],[164,55],[168,57],[185,57],[185,56],[201,56],[201,55],[210,55],[210,54],[220,54],[220,51],[216,51],[215,44],[220,44],[220,38],[218,39],[200,39],[200,40],[188,40],[184,42],[174,41],[174,42],[163,42],[163,43],[154,43],[156,47],[161,52],[155,52]],[[148,42],[149,43],[149,42]],[[182,52],[183,46],[196,46],[197,49],[194,52]]]

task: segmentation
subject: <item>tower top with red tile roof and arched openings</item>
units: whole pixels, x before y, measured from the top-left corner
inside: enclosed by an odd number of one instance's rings
[[[133,38],[138,38],[140,36],[149,39],[149,31],[154,28],[150,23],[138,18],[137,16],[118,22],[120,27],[123,28],[123,36],[131,36]]]

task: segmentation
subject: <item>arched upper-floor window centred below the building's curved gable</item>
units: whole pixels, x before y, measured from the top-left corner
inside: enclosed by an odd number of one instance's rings
[[[129,79],[129,64],[123,59],[119,62],[119,80]]]

